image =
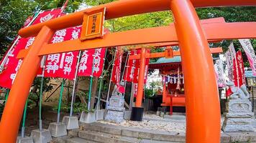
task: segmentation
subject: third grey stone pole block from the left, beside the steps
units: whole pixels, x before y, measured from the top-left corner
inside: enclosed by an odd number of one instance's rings
[[[62,137],[68,134],[67,128],[65,127],[65,124],[63,122],[50,123],[48,129],[50,130],[52,137]]]

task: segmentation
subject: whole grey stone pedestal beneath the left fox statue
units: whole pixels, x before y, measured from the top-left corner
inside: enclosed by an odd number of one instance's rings
[[[124,97],[112,95],[107,106],[106,121],[124,122]]]

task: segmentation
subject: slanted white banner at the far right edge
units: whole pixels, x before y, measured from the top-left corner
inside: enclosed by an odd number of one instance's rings
[[[256,76],[256,56],[250,39],[239,39],[239,42],[247,55],[248,61],[250,62],[252,74],[253,76]]]

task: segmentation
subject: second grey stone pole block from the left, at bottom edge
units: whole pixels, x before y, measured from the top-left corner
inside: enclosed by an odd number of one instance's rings
[[[30,137],[32,137],[34,143],[47,143],[52,140],[52,136],[48,129],[35,129],[32,130]]]

